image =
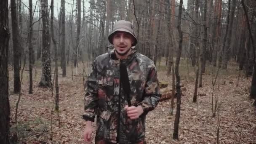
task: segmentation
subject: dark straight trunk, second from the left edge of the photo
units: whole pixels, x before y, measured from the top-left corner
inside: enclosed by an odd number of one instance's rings
[[[12,23],[12,38],[13,38],[13,88],[14,93],[20,92],[20,51],[21,47],[19,45],[19,29],[18,29],[18,21],[17,21],[17,13],[16,13],[16,0],[11,0],[11,23]]]

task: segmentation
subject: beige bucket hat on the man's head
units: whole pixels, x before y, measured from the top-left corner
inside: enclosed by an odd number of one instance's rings
[[[130,21],[125,21],[125,20],[117,21],[114,25],[113,31],[108,37],[109,43],[113,44],[112,40],[115,32],[121,31],[121,32],[128,32],[134,37],[134,43],[132,44],[132,46],[135,46],[138,42],[133,29],[134,29],[133,24]]]

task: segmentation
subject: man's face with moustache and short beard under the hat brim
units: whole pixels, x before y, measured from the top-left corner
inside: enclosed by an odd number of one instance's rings
[[[117,54],[120,56],[128,54],[133,41],[133,36],[128,32],[116,32],[113,37],[113,45]]]

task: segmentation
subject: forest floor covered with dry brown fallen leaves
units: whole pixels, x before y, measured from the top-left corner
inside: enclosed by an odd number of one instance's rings
[[[19,95],[13,94],[13,71],[10,69],[11,133],[17,133],[20,144],[85,144],[83,142],[85,121],[82,119],[84,107],[82,64],[80,67],[77,74],[74,69],[73,80],[71,67],[67,67],[67,77],[63,78],[59,75],[60,125],[57,112],[51,115],[55,92],[52,96],[51,89],[38,87],[41,76],[40,67],[33,72],[33,94],[28,94],[29,73],[28,71],[23,73],[18,123],[17,125],[14,123],[16,101]],[[236,69],[236,66],[231,65],[229,68],[219,70],[216,80],[218,96],[216,105],[219,109],[216,109],[216,117],[213,117],[212,78],[214,80],[217,70],[207,67],[203,75],[203,88],[198,89],[197,102],[192,103],[195,72],[192,67],[181,63],[181,83],[187,91],[183,92],[184,96],[181,98],[179,140],[172,140],[176,112],[176,99],[174,99],[174,115],[170,115],[171,100],[161,101],[155,110],[147,115],[147,143],[214,144],[217,143],[219,119],[220,144],[256,144],[256,110],[252,106],[253,100],[249,99],[251,77],[245,77],[243,72]],[[88,74],[87,70],[86,72]],[[60,68],[59,73],[61,73]],[[239,80],[237,80],[238,75],[240,75]],[[166,75],[164,64],[158,67],[158,77],[161,81],[167,81],[168,86],[171,87],[171,76]],[[215,103],[215,97],[213,101]],[[52,140],[50,140],[51,135],[53,135]]]

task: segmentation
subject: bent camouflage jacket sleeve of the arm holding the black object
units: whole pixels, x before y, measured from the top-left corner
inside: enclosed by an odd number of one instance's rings
[[[138,104],[144,111],[142,115],[147,115],[149,111],[155,109],[161,97],[155,64],[149,65],[148,68],[149,73],[145,84],[143,100]]]

